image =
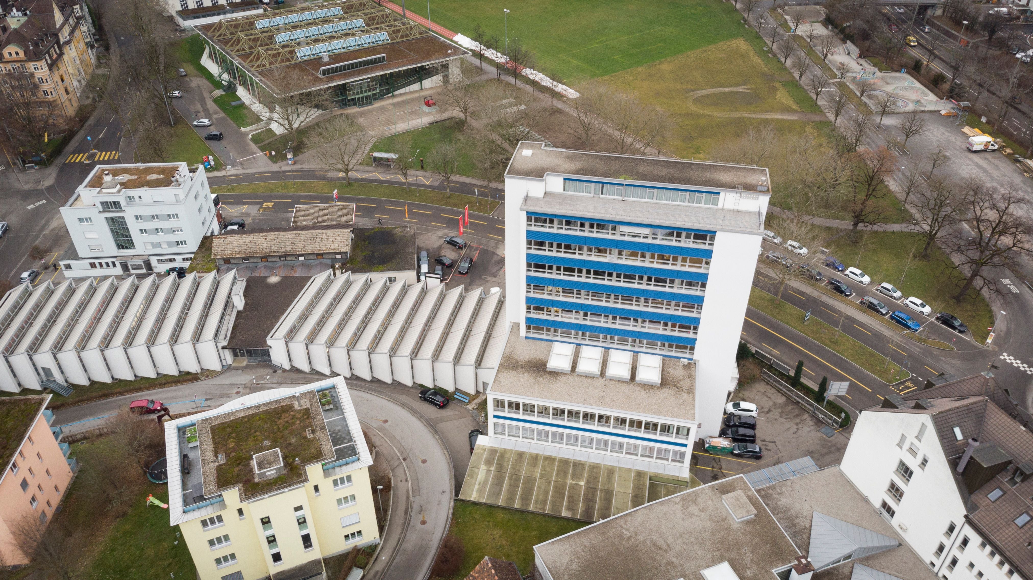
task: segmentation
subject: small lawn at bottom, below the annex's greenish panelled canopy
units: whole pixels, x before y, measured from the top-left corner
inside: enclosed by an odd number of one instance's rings
[[[466,557],[453,578],[465,578],[484,556],[513,561],[521,574],[530,574],[534,568],[531,548],[586,525],[566,518],[456,501],[448,532],[463,540]]]

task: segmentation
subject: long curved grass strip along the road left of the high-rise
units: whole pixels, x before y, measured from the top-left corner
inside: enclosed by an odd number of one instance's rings
[[[262,183],[242,183],[240,185],[219,185],[213,187],[212,192],[219,193],[220,195],[231,193],[321,193],[328,195],[335,189],[341,195],[381,197],[384,200],[398,200],[400,202],[430,204],[432,206],[457,209],[470,206],[470,211],[482,214],[492,213],[499,205],[495,200],[489,201],[483,197],[474,197],[471,200],[469,195],[462,193],[446,193],[444,191],[419,189],[416,187],[406,189],[401,185],[352,182],[351,186],[345,186],[343,180],[265,181]],[[226,200],[223,200],[223,203],[226,203]]]

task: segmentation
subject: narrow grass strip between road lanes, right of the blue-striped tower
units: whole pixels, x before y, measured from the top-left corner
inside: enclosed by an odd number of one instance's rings
[[[832,348],[884,383],[897,383],[910,376],[897,363],[887,361],[883,355],[838,332],[832,326],[814,317],[805,324],[803,310],[785,301],[776,304],[774,296],[759,288],[750,289],[750,306]]]

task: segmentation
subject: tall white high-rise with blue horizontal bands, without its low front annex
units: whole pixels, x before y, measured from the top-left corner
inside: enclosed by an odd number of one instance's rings
[[[521,337],[691,361],[689,415],[717,434],[769,184],[763,167],[521,143],[505,174],[507,319]]]

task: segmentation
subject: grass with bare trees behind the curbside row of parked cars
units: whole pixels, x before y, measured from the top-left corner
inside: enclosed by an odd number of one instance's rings
[[[862,243],[864,241],[864,243]],[[864,251],[862,251],[864,246]],[[905,274],[905,266],[915,248],[914,255],[921,251],[921,236],[905,232],[873,232],[864,240],[852,243],[847,236],[841,236],[825,243],[833,254],[847,266],[857,265],[872,277],[873,283],[889,282],[900,288],[905,297],[917,296],[929,304],[934,312],[947,311],[958,316],[972,332],[976,342],[987,340],[990,327],[994,326],[994,313],[987,300],[970,291],[961,302],[954,301],[960,289],[962,274],[938,246],[933,246],[928,261],[914,261]],[[857,254],[860,261],[857,261]]]

